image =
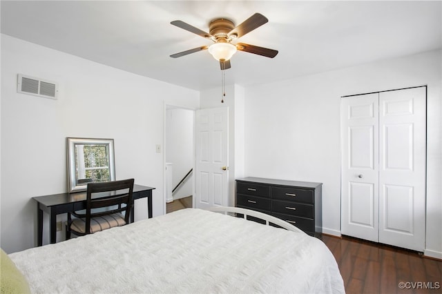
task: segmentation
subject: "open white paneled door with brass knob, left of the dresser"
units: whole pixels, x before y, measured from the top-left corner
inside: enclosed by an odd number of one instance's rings
[[[196,111],[195,207],[229,204],[229,108]]]

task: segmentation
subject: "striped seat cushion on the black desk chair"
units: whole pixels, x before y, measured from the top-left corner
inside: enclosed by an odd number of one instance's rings
[[[124,226],[125,224],[124,216],[121,213],[93,217],[90,219],[90,233],[97,233],[106,230],[106,228]],[[70,229],[79,233],[86,233],[86,219],[74,219],[72,224],[70,224]]]

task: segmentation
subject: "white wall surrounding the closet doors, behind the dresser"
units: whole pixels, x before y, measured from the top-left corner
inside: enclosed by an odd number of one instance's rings
[[[324,233],[340,235],[340,97],[427,85],[427,240],[442,258],[441,50],[245,90],[245,174],[323,183]]]

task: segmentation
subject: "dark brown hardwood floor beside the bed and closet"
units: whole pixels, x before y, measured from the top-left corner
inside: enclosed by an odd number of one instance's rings
[[[336,258],[347,293],[442,293],[439,260],[352,237],[320,239]]]

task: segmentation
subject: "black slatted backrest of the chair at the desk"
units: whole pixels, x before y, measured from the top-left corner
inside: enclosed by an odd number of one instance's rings
[[[133,182],[134,179],[122,179],[111,182],[88,183],[86,192],[86,233],[90,233],[90,219],[93,217],[124,211],[124,221],[128,224],[133,206]],[[95,212],[96,208],[108,209]]]

